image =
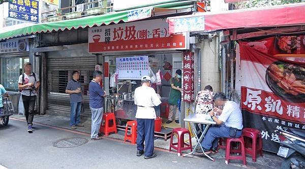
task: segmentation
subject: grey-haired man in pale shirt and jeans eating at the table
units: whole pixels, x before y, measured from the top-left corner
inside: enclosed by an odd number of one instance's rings
[[[239,105],[229,101],[223,92],[214,96],[215,108],[209,112],[211,118],[218,124],[208,129],[201,146],[206,154],[216,152],[219,138],[240,138],[242,129],[242,115]],[[223,107],[223,110],[216,107]],[[220,115],[218,118],[215,114]],[[211,150],[211,151],[210,151]],[[202,150],[196,152],[202,153]]]

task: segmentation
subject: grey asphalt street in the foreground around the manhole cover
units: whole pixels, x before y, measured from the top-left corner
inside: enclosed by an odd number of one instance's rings
[[[64,138],[85,138],[85,134],[54,127],[34,125],[27,133],[25,122],[12,120],[0,126],[0,164],[10,168],[240,168],[202,158],[178,157],[174,153],[156,151],[157,158],[136,157],[136,147],[102,139],[75,148],[56,148],[53,143]]]

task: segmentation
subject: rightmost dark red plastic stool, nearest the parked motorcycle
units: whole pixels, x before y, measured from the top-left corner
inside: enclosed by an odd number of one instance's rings
[[[242,130],[242,136],[245,138],[246,154],[251,155],[252,161],[256,162],[258,153],[263,156],[262,136],[260,131],[255,128],[244,128]]]

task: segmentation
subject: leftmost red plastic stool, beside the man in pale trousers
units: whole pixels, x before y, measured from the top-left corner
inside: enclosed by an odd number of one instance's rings
[[[110,132],[117,133],[114,113],[104,113],[100,132],[108,136]]]

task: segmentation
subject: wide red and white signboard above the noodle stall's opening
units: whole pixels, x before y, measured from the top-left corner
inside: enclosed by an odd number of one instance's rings
[[[166,20],[88,28],[89,53],[188,49],[187,33],[171,35]]]

